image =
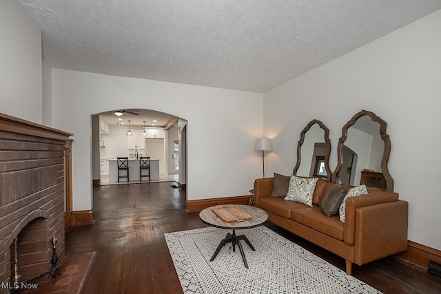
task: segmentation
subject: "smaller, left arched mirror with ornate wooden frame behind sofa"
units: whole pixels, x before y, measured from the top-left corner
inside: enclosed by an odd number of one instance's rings
[[[320,120],[311,120],[300,133],[293,174],[330,180],[329,154],[329,129]]]

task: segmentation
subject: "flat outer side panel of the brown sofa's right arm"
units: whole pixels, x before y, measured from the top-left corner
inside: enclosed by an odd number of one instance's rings
[[[398,200],[356,209],[354,262],[358,265],[407,250],[409,203]]]

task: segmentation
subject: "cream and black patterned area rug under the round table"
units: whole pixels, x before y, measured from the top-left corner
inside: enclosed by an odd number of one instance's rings
[[[208,227],[165,233],[184,293],[379,293],[267,227],[236,230],[256,249],[241,241],[249,269],[231,243],[210,262],[228,232]]]

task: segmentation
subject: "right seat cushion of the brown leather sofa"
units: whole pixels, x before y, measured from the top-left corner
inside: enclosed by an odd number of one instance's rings
[[[291,219],[338,240],[344,239],[345,224],[340,222],[338,216],[325,216],[325,213],[317,205],[307,209],[292,210]]]

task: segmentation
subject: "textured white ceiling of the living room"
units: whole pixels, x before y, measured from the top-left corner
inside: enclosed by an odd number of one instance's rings
[[[441,0],[17,0],[51,67],[266,92]]]

